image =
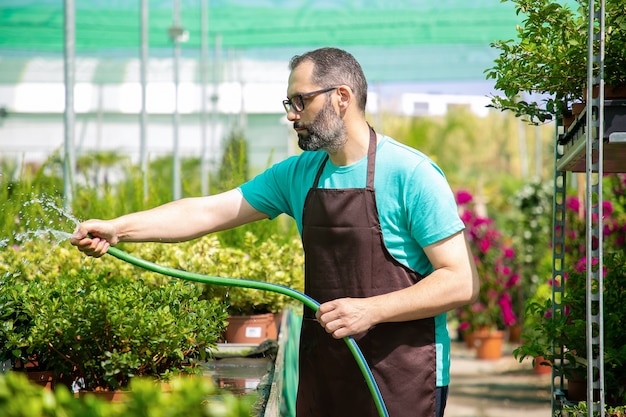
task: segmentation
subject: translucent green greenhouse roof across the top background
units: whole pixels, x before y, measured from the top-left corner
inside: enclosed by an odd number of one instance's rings
[[[515,37],[521,17],[498,0],[179,0],[185,60],[201,50],[201,9],[208,4],[206,41],[213,58],[236,58],[245,77],[285,82],[286,62],[320,46],[352,52],[372,83],[484,81],[497,51],[490,43]],[[64,10],[60,0],[2,0],[0,83],[46,81],[48,66],[62,68]],[[91,80],[118,83],[140,53],[139,0],[76,0],[76,55]],[[148,0],[151,68],[171,61],[173,0]],[[217,55],[216,55],[217,56]],[[229,58],[230,57],[230,58]],[[233,59],[234,59],[233,58]],[[35,62],[33,63],[33,61]],[[37,61],[39,60],[39,61]],[[91,64],[85,64],[91,63]],[[248,63],[248,64],[245,64]],[[252,64],[250,64],[252,63]],[[279,65],[283,71],[272,76]],[[199,78],[199,66],[183,74]],[[256,71],[255,71],[256,68]],[[81,65],[77,70],[81,71]],[[266,71],[267,70],[267,71]],[[256,72],[256,75],[255,75]],[[62,71],[53,77],[61,77]],[[81,77],[77,74],[77,79]],[[280,77],[280,79],[278,79]],[[58,81],[58,80],[57,80]]]

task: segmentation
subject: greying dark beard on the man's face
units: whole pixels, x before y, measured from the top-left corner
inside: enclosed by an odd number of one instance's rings
[[[336,153],[347,141],[346,127],[343,120],[335,113],[330,100],[315,119],[308,125],[294,122],[294,128],[305,128],[306,133],[298,133],[298,146],[303,151],[325,150],[328,153]]]

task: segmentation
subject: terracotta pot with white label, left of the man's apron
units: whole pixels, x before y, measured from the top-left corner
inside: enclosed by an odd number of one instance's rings
[[[266,339],[278,339],[280,317],[273,313],[254,316],[230,316],[225,339],[228,343],[259,344]]]

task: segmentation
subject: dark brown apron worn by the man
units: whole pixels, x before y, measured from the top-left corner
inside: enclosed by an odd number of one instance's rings
[[[414,285],[420,276],[387,250],[374,194],[376,134],[370,128],[367,188],[318,188],[317,172],[302,215],[305,292],[320,303],[370,297]],[[354,336],[372,368],[391,417],[434,417],[436,384],[433,318],[379,324]],[[305,308],[300,337],[297,417],[376,417],[358,365]]]

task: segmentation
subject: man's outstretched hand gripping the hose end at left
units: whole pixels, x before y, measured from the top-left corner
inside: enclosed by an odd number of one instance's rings
[[[70,243],[86,255],[99,258],[119,242],[112,222],[87,220],[76,227]]]

